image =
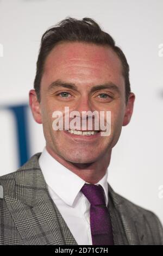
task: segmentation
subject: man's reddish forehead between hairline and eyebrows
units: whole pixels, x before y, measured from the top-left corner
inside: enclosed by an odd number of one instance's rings
[[[48,54],[42,82],[53,82],[63,76],[74,82],[97,83],[106,79],[122,83],[122,64],[108,46],[85,42],[61,42]],[[78,81],[77,81],[78,80]],[[79,81],[80,80],[80,81]],[[102,81],[104,80],[104,81]]]

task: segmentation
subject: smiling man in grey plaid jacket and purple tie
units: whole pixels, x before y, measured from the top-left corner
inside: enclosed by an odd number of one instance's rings
[[[48,29],[34,88],[29,104],[43,125],[46,148],[0,179],[0,244],[162,245],[158,217],[107,182],[111,150],[135,100],[126,57],[111,36],[89,18],[68,18]],[[65,117],[65,107],[76,111],[78,120],[84,111],[104,112],[106,126],[95,129],[94,116],[90,129],[87,115],[84,127],[64,123],[54,129],[61,117],[55,113]],[[68,125],[71,121],[72,115]],[[110,127],[108,135],[102,136],[103,127]]]

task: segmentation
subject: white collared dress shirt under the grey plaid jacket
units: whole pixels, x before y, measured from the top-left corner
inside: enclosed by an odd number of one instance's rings
[[[48,192],[78,245],[92,245],[90,202],[80,191],[85,182],[52,157],[46,148],[39,157]],[[108,170],[97,183],[103,187],[108,205]]]

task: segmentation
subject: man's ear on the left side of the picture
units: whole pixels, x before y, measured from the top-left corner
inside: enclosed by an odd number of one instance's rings
[[[29,106],[32,111],[33,117],[38,124],[42,124],[41,117],[41,106],[40,102],[37,99],[35,90],[29,91]]]

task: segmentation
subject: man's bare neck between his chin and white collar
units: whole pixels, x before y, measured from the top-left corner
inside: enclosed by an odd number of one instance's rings
[[[85,182],[96,184],[103,178],[110,163],[111,150],[103,154],[103,156],[92,163],[73,163],[63,159],[60,155],[55,153],[51,148],[46,146],[48,153],[54,157],[59,163],[78,175]]]

